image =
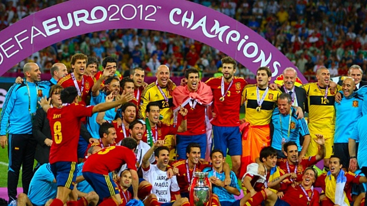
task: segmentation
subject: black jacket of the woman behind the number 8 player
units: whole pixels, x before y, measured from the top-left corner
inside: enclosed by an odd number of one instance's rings
[[[47,113],[43,108],[39,108],[34,116],[32,134],[34,139],[37,141],[36,153],[34,154],[34,159],[37,160],[41,165],[48,163],[48,158],[50,156],[50,147],[48,147],[44,141],[46,138],[52,140],[50,122],[47,119]],[[89,139],[92,138],[91,134],[88,132],[87,128],[80,124],[80,135],[84,140],[89,143]]]

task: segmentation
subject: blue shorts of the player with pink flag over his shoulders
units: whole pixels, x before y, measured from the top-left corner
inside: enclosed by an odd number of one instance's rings
[[[201,159],[205,159],[205,152],[207,147],[206,133],[202,135],[176,135],[176,151],[177,159],[186,159],[186,147],[190,143],[200,144]]]

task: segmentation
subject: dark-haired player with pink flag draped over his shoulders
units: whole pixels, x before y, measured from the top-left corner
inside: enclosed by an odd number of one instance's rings
[[[178,86],[174,89],[173,103],[175,105],[175,111],[178,111],[180,107],[184,107],[188,110],[187,114],[187,131],[179,132],[176,136],[176,150],[178,159],[185,159],[185,148],[195,141],[200,144],[201,159],[205,159],[205,153],[211,150],[211,138],[207,138],[207,121],[209,120],[209,114],[211,116],[210,104],[213,99],[211,89],[208,85],[199,80],[199,71],[195,68],[186,69],[185,79],[187,81],[186,86]],[[174,118],[177,118],[175,115]],[[175,121],[174,121],[175,122]],[[208,124],[210,124],[208,122]]]

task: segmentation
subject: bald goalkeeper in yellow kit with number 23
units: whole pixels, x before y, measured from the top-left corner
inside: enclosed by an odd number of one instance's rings
[[[165,124],[173,124],[173,99],[172,91],[176,88],[173,84],[172,88],[167,87],[170,78],[170,69],[166,65],[160,65],[156,72],[157,81],[149,84],[142,92],[140,100],[139,117],[145,119],[145,109],[149,102],[157,102],[160,108],[160,114],[163,116],[161,121]],[[153,134],[155,135],[155,134]],[[173,135],[168,135],[164,139],[164,146],[168,146],[170,151],[174,151],[175,139]],[[170,152],[170,159],[174,157],[174,154]]]

